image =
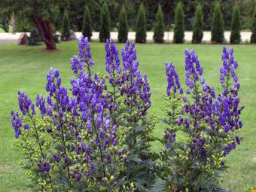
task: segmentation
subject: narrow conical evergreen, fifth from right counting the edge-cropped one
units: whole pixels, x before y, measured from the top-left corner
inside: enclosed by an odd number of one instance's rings
[[[182,44],[184,41],[184,11],[181,2],[178,3],[175,9],[175,26],[173,42]]]

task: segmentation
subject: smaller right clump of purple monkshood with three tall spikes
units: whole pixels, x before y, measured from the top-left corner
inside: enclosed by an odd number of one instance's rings
[[[224,191],[219,172],[226,168],[225,157],[240,144],[238,67],[233,49],[226,47],[220,69],[222,92],[203,78],[194,50],[185,50],[186,90],[180,85],[172,62],[166,62],[166,130],[160,142],[163,191]]]

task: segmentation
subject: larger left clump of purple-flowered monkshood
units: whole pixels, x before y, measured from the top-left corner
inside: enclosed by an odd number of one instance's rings
[[[78,48],[71,59],[72,96],[56,69],[47,73],[47,97],[38,95],[33,104],[19,92],[20,112],[11,116],[26,175],[36,190],[148,190],[155,177],[154,118],[146,117],[151,92],[135,44],[123,48],[121,69],[113,40],[106,42],[107,78],[93,72],[87,38],[78,39]]]

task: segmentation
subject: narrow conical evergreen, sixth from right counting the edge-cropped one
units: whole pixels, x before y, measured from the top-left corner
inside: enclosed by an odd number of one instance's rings
[[[163,11],[161,5],[158,5],[156,23],[154,25],[154,41],[157,43],[163,43],[164,36],[164,21],[163,21]]]

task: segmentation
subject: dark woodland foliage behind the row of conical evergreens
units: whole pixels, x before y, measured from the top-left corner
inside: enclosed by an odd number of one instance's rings
[[[11,10],[13,9],[10,5],[12,5],[13,0],[6,0],[0,2],[0,26],[5,25],[5,21],[11,21]],[[17,1],[19,2],[19,1]],[[26,5],[29,4],[29,1],[26,0]],[[103,0],[67,0],[67,1],[59,1],[55,0],[53,5],[58,5],[58,10],[53,13],[55,15],[59,14],[62,16],[65,9],[69,11],[69,18],[72,29],[74,31],[81,31],[83,28],[83,18],[84,18],[84,5],[88,5],[93,21],[93,30],[99,31],[99,18],[100,18],[100,11],[102,5],[105,1]],[[126,8],[127,13],[127,20],[131,30],[136,29],[136,14],[139,11],[139,5],[143,2],[145,6],[146,12],[146,20],[147,20],[147,30],[153,30],[154,22],[155,22],[155,15],[157,13],[158,4],[161,5],[163,8],[163,17],[164,23],[167,28],[170,28],[174,23],[174,10],[178,2],[182,2],[185,14],[185,30],[192,30],[193,29],[193,19],[194,19],[194,12],[196,10],[197,4],[201,3],[203,8],[203,18],[205,25],[203,26],[204,30],[211,29],[211,22],[212,22],[212,8],[215,5],[216,1],[212,0],[174,0],[174,1],[165,1],[165,0],[108,0],[109,10],[110,10],[110,18],[111,18],[111,28],[115,28],[118,22],[118,15],[121,10],[121,7],[124,5]],[[232,11],[230,8],[233,8],[235,2],[238,3],[240,11],[241,11],[241,20],[242,26],[241,29],[249,29],[251,26],[252,16],[254,12],[254,6],[256,5],[255,0],[220,0],[218,1],[221,5],[221,11],[224,14],[224,28],[229,30],[231,26],[231,18],[232,18]],[[26,12],[26,9],[23,11]],[[45,12],[45,11],[44,11]],[[5,14],[8,13],[8,14]],[[17,17],[21,17],[21,15],[17,15]],[[61,18],[61,17],[60,17]],[[58,28],[59,23],[56,22],[55,26]],[[28,26],[28,23],[23,23],[22,25]],[[22,28],[21,28],[22,29]],[[21,29],[18,29],[21,31]]]

